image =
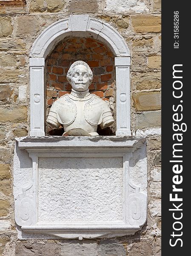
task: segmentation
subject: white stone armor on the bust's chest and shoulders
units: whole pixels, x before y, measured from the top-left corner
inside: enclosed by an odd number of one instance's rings
[[[47,122],[55,128],[59,128],[62,124],[65,133],[80,128],[90,135],[99,135],[96,132],[97,125],[103,129],[111,125],[114,119],[103,99],[89,92],[85,96],[80,96],[72,90],[71,94],[66,94],[54,102]]]

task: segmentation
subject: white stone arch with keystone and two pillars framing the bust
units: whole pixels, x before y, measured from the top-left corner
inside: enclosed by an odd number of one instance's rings
[[[46,57],[64,38],[92,37],[107,45],[115,56],[116,135],[131,135],[130,129],[130,53],[123,37],[108,23],[89,15],[69,15],[48,26],[34,42],[30,53],[30,136],[45,135],[44,66]]]

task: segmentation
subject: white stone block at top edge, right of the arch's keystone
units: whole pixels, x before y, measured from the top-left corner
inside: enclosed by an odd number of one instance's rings
[[[106,0],[106,12],[149,12],[143,0]]]

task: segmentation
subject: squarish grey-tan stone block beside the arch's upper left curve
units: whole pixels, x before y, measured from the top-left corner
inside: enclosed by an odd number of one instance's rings
[[[25,24],[25,26],[23,26]],[[17,17],[17,35],[20,37],[36,36],[39,31],[39,22],[36,17],[18,16]]]

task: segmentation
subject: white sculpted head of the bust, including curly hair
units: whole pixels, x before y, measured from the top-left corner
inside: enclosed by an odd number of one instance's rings
[[[93,73],[86,62],[75,61],[71,64],[66,78],[74,90],[85,91],[93,80]]]

